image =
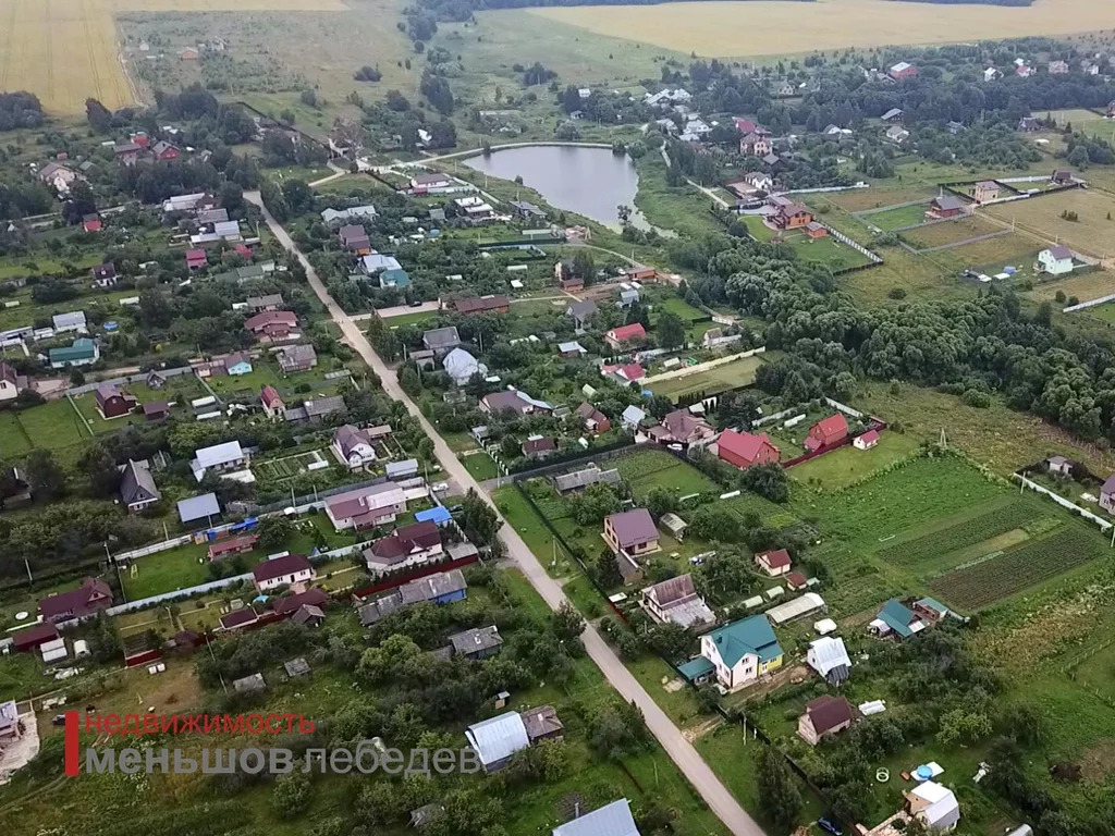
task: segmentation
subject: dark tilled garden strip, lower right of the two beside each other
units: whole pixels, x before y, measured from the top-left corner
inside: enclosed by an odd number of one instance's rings
[[[1068,531],[949,572],[931,581],[929,587],[960,610],[978,610],[1087,563],[1102,551],[1094,537]]]

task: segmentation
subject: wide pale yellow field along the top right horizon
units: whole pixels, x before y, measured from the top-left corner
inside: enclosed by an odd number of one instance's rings
[[[491,12],[498,14],[500,12]],[[843,47],[1068,35],[1115,27],[1115,3],[1037,0],[1030,7],[889,0],[779,0],[579,6],[532,10],[600,35],[708,57],[793,55]]]

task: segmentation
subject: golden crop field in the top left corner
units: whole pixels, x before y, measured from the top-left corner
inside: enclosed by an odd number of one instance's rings
[[[135,104],[115,16],[129,11],[340,11],[342,0],[0,0],[0,90],[30,90],[51,113]]]

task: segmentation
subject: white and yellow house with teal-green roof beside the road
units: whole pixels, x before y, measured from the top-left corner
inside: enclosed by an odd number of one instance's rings
[[[706,633],[700,655],[678,670],[690,681],[712,677],[726,691],[738,691],[782,668],[785,654],[766,615],[752,615]]]

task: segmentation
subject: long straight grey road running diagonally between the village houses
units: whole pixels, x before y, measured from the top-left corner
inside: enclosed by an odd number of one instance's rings
[[[395,372],[372,351],[371,343],[368,342],[368,338],[365,337],[360,327],[340,309],[332,297],[326,291],[326,285],[318,278],[317,272],[310,265],[306,255],[294,246],[294,242],[287,234],[287,231],[263,207],[259,192],[245,192],[244,197],[263,210],[263,217],[271,229],[271,233],[284,247],[293,252],[299,262],[301,262],[313,292],[317,293],[318,299],[326,305],[329,315],[340,327],[346,341],[379,376],[384,391],[406,406],[415,420],[421,425],[426,435],[434,440],[434,451],[446,473],[466,490],[474,488],[477,494],[487,498],[487,495],[481,489],[476,479],[465,469],[464,465],[453,454],[453,450],[449,449],[448,445],[418,410],[414,401],[399,388]],[[491,499],[488,499],[488,503],[491,503]],[[542,564],[526,546],[526,543],[523,542],[523,538],[518,536],[518,533],[510,525],[504,525],[500,532],[500,538],[507,547],[507,555],[523,572],[531,585],[542,595],[546,604],[552,610],[561,606],[566,600],[561,585],[546,574],[545,568],[543,568]],[[678,727],[673,725],[673,721],[666,716],[666,712],[658,707],[650,694],[631,675],[631,672],[628,671],[611,645],[603,640],[595,628],[589,625],[584,631],[583,639],[589,657],[600,667],[604,677],[620,692],[623,699],[634,702],[639,707],[639,710],[642,711],[643,717],[647,719],[647,727],[658,738],[662,748],[673,762],[678,765],[678,768],[686,775],[694,787],[696,787],[697,791],[700,793],[712,813],[724,822],[735,836],[765,836],[763,828],[733,798],[731,794],[720,782],[720,779],[709,769],[692,745],[685,739]]]

